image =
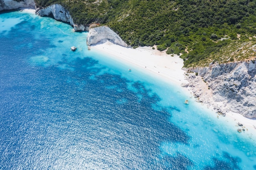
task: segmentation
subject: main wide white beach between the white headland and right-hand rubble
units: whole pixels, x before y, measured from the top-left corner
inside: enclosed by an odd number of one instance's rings
[[[155,50],[152,47],[132,49],[107,41],[90,46],[90,48],[117,57],[127,63],[137,65],[179,86],[181,83],[188,83],[184,78],[185,71],[182,70],[183,60],[178,55],[171,57],[165,51],[160,52],[156,47]]]

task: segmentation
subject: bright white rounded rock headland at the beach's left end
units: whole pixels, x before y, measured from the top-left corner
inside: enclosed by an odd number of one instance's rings
[[[104,42],[106,40],[121,46],[127,46],[127,44],[119,37],[119,35],[117,35],[117,33],[115,33],[108,26],[93,27],[89,30],[87,36],[87,43],[89,46],[99,42]]]

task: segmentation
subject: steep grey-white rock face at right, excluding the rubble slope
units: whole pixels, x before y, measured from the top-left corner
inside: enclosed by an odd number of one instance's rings
[[[212,89],[216,102],[226,103],[229,110],[244,117],[256,118],[256,62],[213,64],[191,68]],[[193,82],[193,77],[189,78]],[[220,108],[221,110],[222,108]]]

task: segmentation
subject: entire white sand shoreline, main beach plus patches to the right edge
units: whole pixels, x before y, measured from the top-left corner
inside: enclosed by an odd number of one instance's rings
[[[137,65],[144,68],[146,71],[162,76],[162,78],[167,79],[169,82],[177,86],[181,86],[182,83],[189,83],[185,77],[186,71],[182,70],[183,60],[178,55],[171,57],[171,55],[167,55],[165,51],[160,52],[156,48],[155,50],[153,50],[152,47],[139,47],[137,49],[132,49],[122,47],[108,41],[95,46],[90,46],[90,49],[117,57],[118,60],[123,60],[126,63]],[[200,88],[202,91],[208,90],[208,86],[202,87],[199,85],[196,88]],[[207,90],[201,88],[207,88]],[[185,93],[190,94],[191,96],[193,95],[191,88],[188,87],[183,89]],[[207,95],[211,96],[210,92],[211,91],[207,91]],[[210,98],[210,96],[208,98]],[[213,110],[215,103],[213,100],[209,99],[208,102],[202,105],[205,108]],[[216,116],[219,117],[219,119],[222,119],[222,116],[217,115],[217,113]],[[238,128],[244,128],[245,133],[248,131],[249,133],[256,135],[256,120],[248,119],[238,113],[232,112],[227,113],[226,117],[223,117],[223,119],[227,119],[227,122],[233,121],[232,124],[234,124],[235,130]],[[243,126],[238,126],[238,122],[243,124]]]

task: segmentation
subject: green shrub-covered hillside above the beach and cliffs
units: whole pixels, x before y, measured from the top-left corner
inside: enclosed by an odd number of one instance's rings
[[[52,3],[77,24],[108,25],[130,46],[182,53],[186,67],[256,56],[256,0],[36,0]]]

